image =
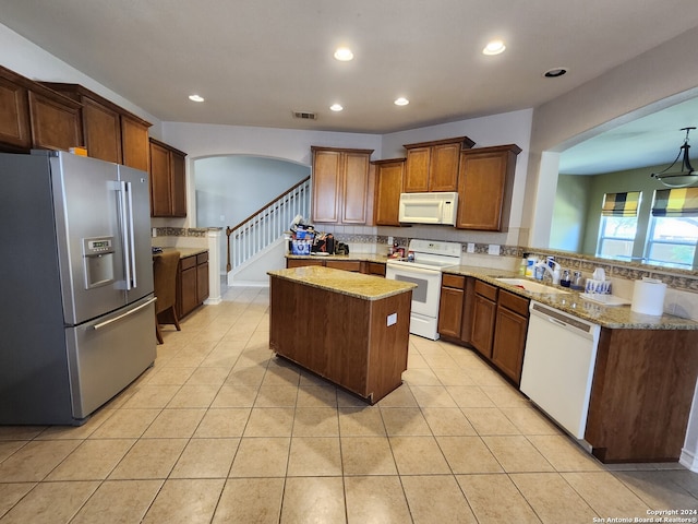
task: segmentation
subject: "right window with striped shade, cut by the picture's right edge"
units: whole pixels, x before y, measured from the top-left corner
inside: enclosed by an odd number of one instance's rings
[[[648,264],[690,270],[698,243],[698,188],[654,192],[645,247]]]

